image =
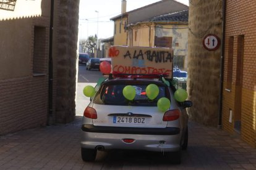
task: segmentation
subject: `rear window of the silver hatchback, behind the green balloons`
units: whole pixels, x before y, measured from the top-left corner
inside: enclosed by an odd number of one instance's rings
[[[146,95],[147,85],[132,85],[136,90],[134,100],[127,100],[122,94],[122,90],[127,84],[109,84],[101,87],[95,95],[93,103],[102,105],[136,105],[136,106],[156,106],[158,99],[166,97],[166,87],[159,87],[159,94],[154,100],[148,99]]]

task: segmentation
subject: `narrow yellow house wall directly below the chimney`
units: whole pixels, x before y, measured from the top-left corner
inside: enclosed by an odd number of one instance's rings
[[[121,25],[121,33],[119,31]],[[127,46],[127,30],[124,30],[125,23],[127,24],[127,17],[114,21],[114,46]]]

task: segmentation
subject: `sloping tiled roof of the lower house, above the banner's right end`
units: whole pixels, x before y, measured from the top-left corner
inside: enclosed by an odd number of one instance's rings
[[[164,14],[150,19],[150,22],[187,22],[189,20],[189,10]]]

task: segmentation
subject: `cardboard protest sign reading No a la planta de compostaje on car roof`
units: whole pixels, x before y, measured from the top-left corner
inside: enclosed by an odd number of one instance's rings
[[[111,46],[113,74],[173,76],[173,49],[163,47]]]

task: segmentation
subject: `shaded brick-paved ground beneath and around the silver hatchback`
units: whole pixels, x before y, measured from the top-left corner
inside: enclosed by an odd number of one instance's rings
[[[0,137],[0,169],[256,169],[256,149],[228,133],[189,123],[189,147],[182,163],[161,155],[114,150],[94,163],[80,158],[80,122],[28,129]]]

